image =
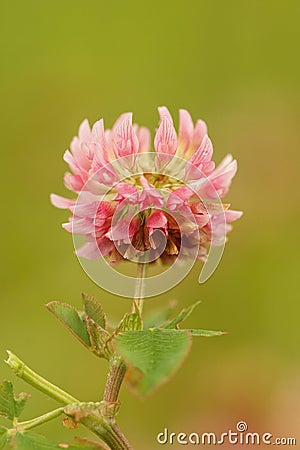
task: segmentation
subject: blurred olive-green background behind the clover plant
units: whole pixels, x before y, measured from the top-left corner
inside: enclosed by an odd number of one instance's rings
[[[85,400],[98,400],[107,364],[87,352],[45,309],[80,306],[95,295],[119,318],[129,300],[98,288],[81,269],[66,211],[63,152],[80,122],[111,126],[133,111],[154,130],[157,106],[206,120],[215,161],[239,163],[227,200],[244,217],[220,266],[198,284],[200,266],[146,309],[201,299],[189,326],[222,329],[195,339],[167,385],[140,401],[121,392],[119,424],[136,449],[160,448],[157,433],[250,431],[299,435],[299,113],[297,0],[27,0],[1,2],[1,315],[0,359],[11,349],[32,368]],[[32,394],[27,419],[55,407]],[[3,422],[4,423],[4,422]],[[58,419],[40,428],[70,440]],[[181,448],[175,444],[173,448]]]

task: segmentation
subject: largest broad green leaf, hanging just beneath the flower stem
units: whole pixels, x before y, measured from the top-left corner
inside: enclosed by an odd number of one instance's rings
[[[142,372],[136,388],[146,395],[178,369],[188,353],[191,338],[182,330],[152,328],[121,333],[114,342],[127,363]]]

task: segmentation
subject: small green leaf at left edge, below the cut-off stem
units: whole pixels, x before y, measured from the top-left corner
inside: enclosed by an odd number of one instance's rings
[[[13,420],[19,417],[29,398],[28,394],[21,392],[18,397],[14,396],[14,388],[10,381],[0,383],[0,415]]]

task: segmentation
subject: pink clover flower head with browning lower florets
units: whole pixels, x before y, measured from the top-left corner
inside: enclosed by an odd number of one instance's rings
[[[111,264],[161,259],[170,263],[196,255],[205,260],[211,245],[224,243],[230,223],[242,213],[221,198],[237,171],[231,155],[215,167],[213,145],[202,120],[179,111],[179,131],[166,107],[151,149],[150,131],[122,114],[112,129],[103,119],[84,120],[64,160],[65,185],[75,199],[52,194],[71,216],[63,227],[85,236],[80,257],[108,257]]]

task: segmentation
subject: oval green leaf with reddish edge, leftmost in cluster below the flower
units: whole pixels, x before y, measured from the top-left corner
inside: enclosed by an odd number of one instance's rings
[[[48,303],[46,308],[52,312],[52,314],[54,314],[55,317],[57,317],[85,347],[90,347],[91,343],[86,324],[73,306],[68,305],[67,303],[54,301]]]

